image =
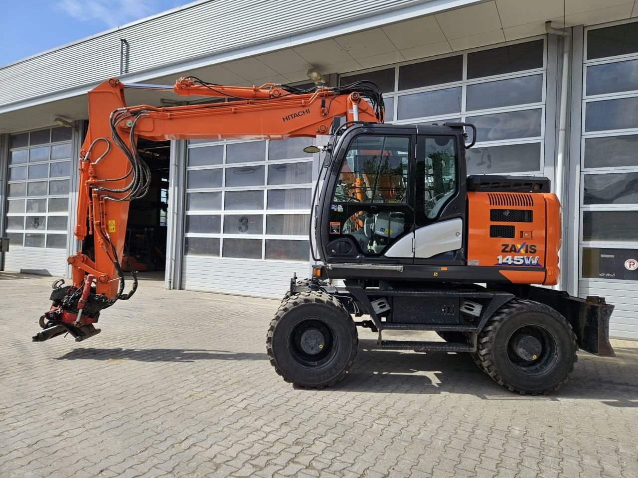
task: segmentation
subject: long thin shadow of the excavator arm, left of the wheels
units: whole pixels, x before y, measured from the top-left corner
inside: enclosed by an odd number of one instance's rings
[[[134,360],[140,362],[194,362],[196,360],[267,360],[266,354],[188,349],[75,349],[57,360]]]

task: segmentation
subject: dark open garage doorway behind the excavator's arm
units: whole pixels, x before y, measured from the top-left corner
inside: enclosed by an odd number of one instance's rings
[[[144,198],[131,201],[122,266],[137,270],[140,280],[164,280],[170,141],[140,139],[137,150],[151,169],[151,187]]]

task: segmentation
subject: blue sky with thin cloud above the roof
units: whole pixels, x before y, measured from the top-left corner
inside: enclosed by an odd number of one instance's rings
[[[0,0],[0,68],[192,0]]]

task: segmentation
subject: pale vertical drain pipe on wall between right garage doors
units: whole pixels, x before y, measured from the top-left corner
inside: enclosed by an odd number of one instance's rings
[[[554,181],[554,192],[560,201],[561,211],[563,210],[563,185],[565,180],[563,179],[563,171],[565,170],[565,137],[567,136],[567,90],[568,90],[568,76],[569,76],[569,45],[570,38],[569,33],[566,30],[561,30],[552,27],[551,20],[545,22],[545,31],[550,35],[563,37],[563,75],[561,76],[560,87],[560,113],[558,122],[558,155],[556,156],[556,180]],[[561,231],[561,235],[563,231]],[[561,240],[561,248],[558,250],[558,264],[563,268],[563,247]],[[561,271],[562,272],[562,271]],[[558,290],[563,289],[563,274],[558,277],[558,284],[556,284]]]

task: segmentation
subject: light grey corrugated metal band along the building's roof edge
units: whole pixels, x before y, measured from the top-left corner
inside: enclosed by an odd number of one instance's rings
[[[128,72],[285,38],[424,0],[210,1],[172,11],[0,69],[0,104],[61,92],[119,75],[120,38]],[[64,68],[60,68],[64,65]],[[25,88],[24,85],[28,85]]]

